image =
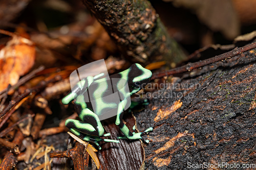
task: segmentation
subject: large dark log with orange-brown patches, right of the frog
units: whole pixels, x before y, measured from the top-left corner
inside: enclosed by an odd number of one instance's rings
[[[149,105],[135,113],[140,131],[154,128],[144,144],[145,169],[255,169],[255,61],[254,49],[147,92]]]

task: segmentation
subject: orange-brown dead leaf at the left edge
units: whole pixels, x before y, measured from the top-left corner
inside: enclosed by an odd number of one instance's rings
[[[19,77],[25,75],[35,61],[35,45],[31,40],[12,33],[8,35],[12,39],[0,50],[0,91],[9,84],[16,84]]]

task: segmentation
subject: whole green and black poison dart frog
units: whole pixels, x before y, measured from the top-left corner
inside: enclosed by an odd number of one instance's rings
[[[101,114],[100,112],[103,112],[104,108],[112,107],[112,105],[98,99],[113,93],[113,89],[115,88],[119,93],[119,99],[123,99],[119,101],[116,106],[117,109],[115,114],[117,117],[115,124],[120,128],[125,136],[118,137],[118,139],[142,139],[145,142],[148,142],[148,140],[142,138],[141,135],[152,131],[152,127],[148,128],[144,132],[132,133],[126,127],[126,125],[124,125],[122,117],[125,105],[129,103],[127,99],[130,99],[131,95],[138,92],[148,82],[150,82],[152,72],[146,68],[143,68],[140,64],[133,64],[130,68],[110,76],[110,80],[119,80],[115,83],[113,81],[106,80],[105,78],[99,79],[99,77],[99,75],[95,77],[88,76],[87,78],[82,79],[72,88],[72,91],[62,99],[61,102],[65,105],[74,100],[76,112],[79,118],[82,120],[81,122],[75,119],[67,119],[65,123],[66,127],[68,127],[70,131],[82,138],[84,141],[95,143],[99,149],[101,148],[98,141],[118,143],[118,140],[100,138],[101,136],[110,136],[110,133],[103,134],[104,129],[99,119],[99,115]],[[123,86],[125,85],[124,83],[128,85],[129,91],[122,90]],[[90,102],[86,102],[85,100],[89,89],[90,91],[93,91],[93,94],[91,94],[90,97],[94,96],[96,99],[94,101],[96,102],[96,111],[95,109],[92,109],[92,104],[90,104]]]

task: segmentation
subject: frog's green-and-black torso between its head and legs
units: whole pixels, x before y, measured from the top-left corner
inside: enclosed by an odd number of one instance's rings
[[[108,114],[107,117],[112,117],[116,115],[118,104],[126,98],[124,93],[129,93],[127,81],[120,79],[120,77],[116,74],[109,80],[104,78],[93,82],[87,91],[77,97],[75,105],[77,105],[78,112],[82,109],[81,105],[84,105],[81,104],[81,101],[84,101],[86,107],[98,116]],[[124,90],[125,87],[126,91]]]

